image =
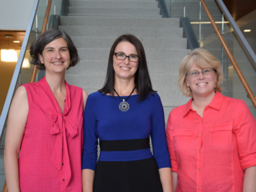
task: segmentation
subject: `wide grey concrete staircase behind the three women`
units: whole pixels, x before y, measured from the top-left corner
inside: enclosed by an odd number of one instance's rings
[[[89,94],[102,88],[111,45],[118,36],[131,33],[144,46],[167,122],[170,111],[189,100],[180,92],[177,77],[180,61],[190,50],[182,38],[180,19],[161,17],[156,0],[70,0],[59,29],[72,37],[81,61],[67,70],[67,82]]]

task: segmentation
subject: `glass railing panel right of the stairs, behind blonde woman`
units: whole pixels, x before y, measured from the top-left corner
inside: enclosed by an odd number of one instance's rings
[[[210,51],[221,62],[224,75],[223,95],[244,100],[256,118],[256,110],[253,107],[252,101],[247,97],[247,93],[229,60],[227,53],[222,47],[204,7],[200,4],[200,0],[165,0],[165,3],[170,17],[189,18],[200,47]],[[223,13],[221,13],[216,1],[205,0],[205,3],[233,54],[237,65],[241,69],[241,72],[255,95],[256,70],[254,65],[248,60],[232,27],[228,20],[223,17]]]

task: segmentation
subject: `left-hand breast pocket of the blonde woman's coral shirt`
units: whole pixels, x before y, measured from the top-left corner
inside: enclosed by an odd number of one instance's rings
[[[193,134],[193,129],[173,130],[173,144],[175,150],[185,150],[189,148]]]

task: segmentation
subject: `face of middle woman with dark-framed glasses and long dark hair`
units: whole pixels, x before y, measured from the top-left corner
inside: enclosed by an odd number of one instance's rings
[[[125,54],[126,56],[138,56],[138,52],[134,45],[130,42],[120,42],[116,45],[115,52]],[[113,68],[115,70],[115,79],[132,79],[138,69],[139,61],[132,62],[128,60],[117,60],[115,54],[113,55]]]

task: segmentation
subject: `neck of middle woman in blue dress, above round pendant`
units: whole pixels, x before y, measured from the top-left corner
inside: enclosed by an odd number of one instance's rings
[[[134,78],[129,79],[129,80],[128,79],[118,79],[118,81],[115,81],[114,88],[120,96],[127,96],[127,95],[131,94],[134,86],[135,86]],[[114,94],[116,94],[116,93],[114,92]],[[132,95],[133,94],[136,94],[136,90],[134,90]]]

